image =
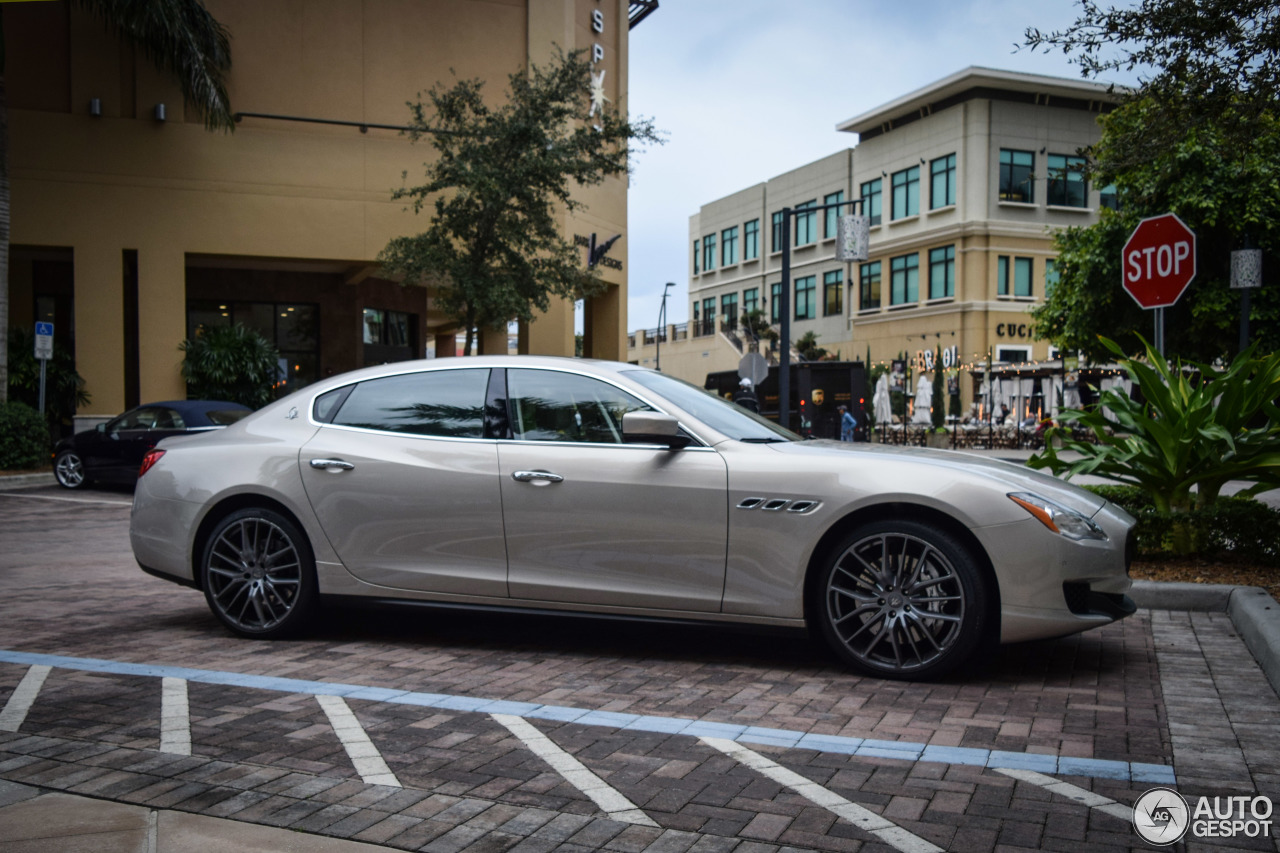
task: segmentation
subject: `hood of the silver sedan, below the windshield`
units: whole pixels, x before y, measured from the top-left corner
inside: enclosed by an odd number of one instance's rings
[[[786,456],[833,457],[854,461],[856,457],[886,462],[900,460],[906,465],[931,466],[980,476],[1001,484],[1010,492],[1034,492],[1041,497],[1056,501],[1062,506],[1093,516],[1106,501],[1093,492],[1071,485],[1064,480],[1033,471],[1024,465],[1005,460],[965,453],[963,451],[929,450],[924,447],[886,447],[884,444],[863,444],[818,439],[808,442],[776,442],[765,444],[769,450]]]

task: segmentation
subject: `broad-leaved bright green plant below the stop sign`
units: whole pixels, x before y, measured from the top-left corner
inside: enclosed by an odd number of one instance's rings
[[[1162,516],[1185,516],[1193,502],[1196,508],[1212,506],[1228,480],[1252,483],[1245,496],[1280,487],[1280,353],[1257,356],[1254,345],[1220,370],[1170,364],[1146,341],[1142,360],[1125,356],[1114,341],[1103,339],[1103,346],[1119,357],[1143,401],[1110,389],[1096,407],[1059,411],[1061,421],[1087,428],[1094,442],[1051,429],[1051,437],[1062,435],[1062,450],[1079,457],[1064,460],[1046,442],[1028,466],[1140,487]],[[1192,532],[1185,524],[1174,526],[1178,553],[1197,549]]]

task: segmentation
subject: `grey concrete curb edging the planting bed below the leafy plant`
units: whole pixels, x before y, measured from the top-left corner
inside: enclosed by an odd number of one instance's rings
[[[1280,603],[1267,590],[1261,587],[1135,580],[1129,597],[1146,610],[1226,613],[1271,688],[1280,695]]]

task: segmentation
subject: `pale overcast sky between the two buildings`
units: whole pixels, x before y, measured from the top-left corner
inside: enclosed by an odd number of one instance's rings
[[[664,131],[628,199],[628,330],[689,319],[689,216],[852,147],[836,124],[983,65],[1079,78],[1061,53],[1016,50],[1059,29],[1073,0],[662,0],[631,31],[630,111]],[[1132,83],[1132,76],[1114,81]]]

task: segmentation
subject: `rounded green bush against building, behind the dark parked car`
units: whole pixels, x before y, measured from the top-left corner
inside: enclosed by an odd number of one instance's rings
[[[271,402],[280,353],[253,329],[241,323],[204,327],[178,348],[192,400],[229,400],[250,409]]]

